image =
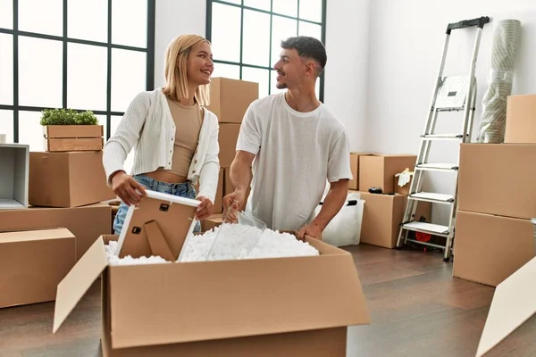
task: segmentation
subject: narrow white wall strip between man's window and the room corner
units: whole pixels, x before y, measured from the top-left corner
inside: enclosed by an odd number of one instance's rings
[[[363,151],[371,0],[329,0],[327,7],[324,103],[346,125],[350,149]]]

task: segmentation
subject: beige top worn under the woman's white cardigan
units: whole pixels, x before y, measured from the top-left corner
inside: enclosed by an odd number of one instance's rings
[[[167,102],[176,128],[172,170],[164,170],[162,167],[158,170],[171,172],[186,178],[188,177],[192,157],[197,150],[199,132],[203,123],[203,109],[197,103],[192,106],[186,106],[173,101],[169,97],[167,97]]]

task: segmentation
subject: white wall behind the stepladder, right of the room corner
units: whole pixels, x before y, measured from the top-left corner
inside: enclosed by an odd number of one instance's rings
[[[480,16],[491,18],[482,32],[477,62],[478,95],[473,139],[478,133],[482,95],[487,89],[494,20],[522,21],[513,94],[536,93],[536,69],[533,66],[536,55],[536,2],[533,0],[374,0],[370,13],[367,150],[417,154],[448,22]],[[475,29],[452,32],[445,75],[468,74],[474,34]],[[438,123],[438,132],[460,131],[459,115],[440,118],[444,121],[442,125]],[[434,143],[430,160],[457,162],[457,153],[454,143]],[[452,193],[453,180],[446,175],[430,175],[430,179],[425,181],[425,189]],[[444,208],[434,205],[432,220],[446,223],[448,211]]]

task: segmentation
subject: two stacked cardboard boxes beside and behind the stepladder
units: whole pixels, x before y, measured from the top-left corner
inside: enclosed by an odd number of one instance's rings
[[[411,181],[398,187],[396,175],[406,169],[413,171],[415,155],[371,153],[350,154],[352,179],[350,191],[359,192],[364,200],[361,243],[392,249],[397,245],[398,230],[404,218]],[[381,194],[369,193],[380,188]],[[431,220],[431,203],[417,205],[415,218]]]

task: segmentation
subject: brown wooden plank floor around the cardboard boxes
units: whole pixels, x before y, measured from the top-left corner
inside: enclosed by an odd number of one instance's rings
[[[439,253],[348,248],[364,286],[372,323],[348,329],[348,357],[474,356],[493,288],[452,278]],[[91,287],[52,335],[54,303],[0,309],[0,356],[101,356],[100,287]],[[536,318],[489,356],[536,356]],[[487,356],[488,357],[488,356]]]

